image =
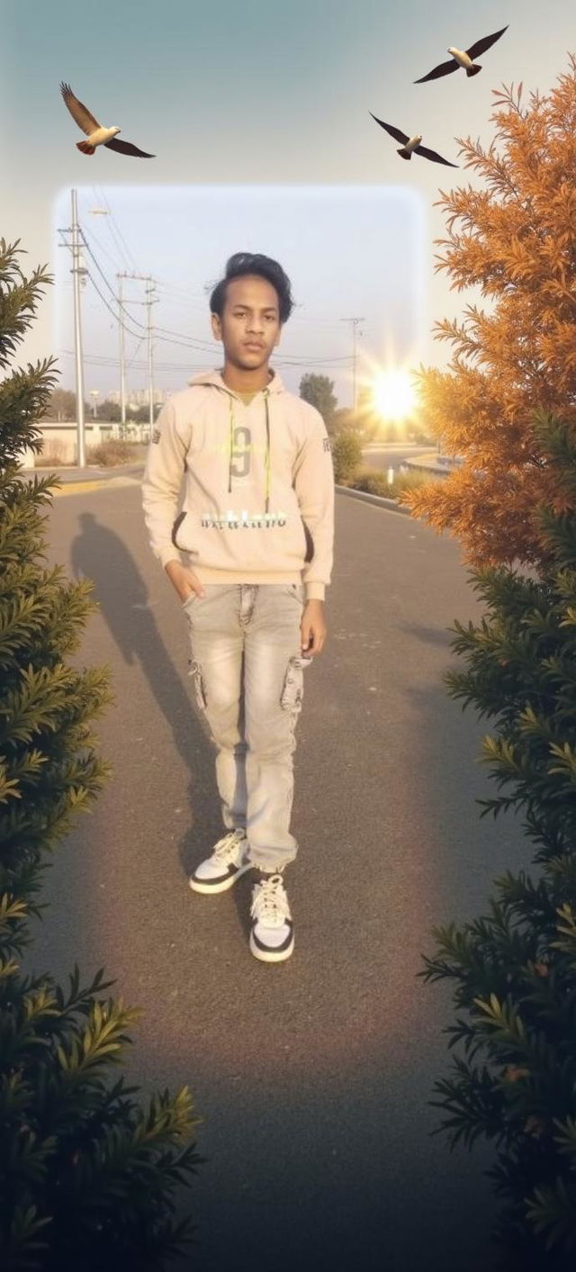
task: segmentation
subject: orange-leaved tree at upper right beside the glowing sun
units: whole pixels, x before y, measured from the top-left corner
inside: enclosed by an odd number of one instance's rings
[[[451,361],[416,373],[431,429],[463,462],[401,497],[458,537],[477,567],[545,563],[537,509],[573,511],[533,420],[554,413],[576,430],[576,59],[525,109],[521,84],[493,93],[500,146],[456,139],[487,188],[440,191],[449,238],[435,240],[445,248],[436,271],[448,271],[451,290],[478,286],[488,308],[435,323]]]

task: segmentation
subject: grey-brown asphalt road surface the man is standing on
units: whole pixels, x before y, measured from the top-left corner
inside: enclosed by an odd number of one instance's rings
[[[441,682],[459,665],[448,628],[481,614],[459,544],[337,495],[328,640],[298,725],[296,948],[278,967],[248,951],[249,875],[214,898],[187,885],[223,833],[214,753],[137,483],[58,496],[50,557],[95,580],[75,660],[112,669],[97,731],[114,775],[56,854],[29,962],[61,979],[104,964],[145,1009],[131,1075],[195,1093],[209,1160],[178,1269],[487,1272],[490,1159],[430,1136],[451,999],[416,979],[432,925],[481,913],[528,856],[514,818],[479,819],[490,729]]]

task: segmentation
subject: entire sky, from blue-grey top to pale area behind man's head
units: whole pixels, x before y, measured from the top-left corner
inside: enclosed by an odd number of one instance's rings
[[[462,315],[478,295],[451,291],[435,271],[434,239],[446,235],[435,201],[482,182],[463,167],[403,162],[370,112],[459,163],[458,139],[493,137],[493,89],[521,80],[528,102],[557,84],[576,51],[568,0],[100,0],[89,23],[71,0],[0,0],[0,234],[20,239],[24,270],[46,265],[55,279],[18,361],[53,354],[61,387],[74,387],[65,244],[75,188],[92,251],[85,389],[100,397],[118,387],[117,273],[155,280],[154,379],[177,391],[188,373],[220,364],[206,289],[239,249],[276,257],[292,280],[298,308],[278,370],[294,391],[317,369],[350,404],[350,317],[362,318],[359,373],[390,359],[445,365],[450,347],[434,338],[434,322]],[[479,75],[413,83],[449,45],[467,48],[506,24]],[[61,80],[155,158],[80,154]],[[144,388],[145,284],[123,286],[127,380]]]

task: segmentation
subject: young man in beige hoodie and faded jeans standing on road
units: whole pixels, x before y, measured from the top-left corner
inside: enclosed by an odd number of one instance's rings
[[[298,851],[289,829],[295,726],[304,669],[326,642],[333,555],[324,422],[270,368],[292,305],[277,261],[230,257],[210,298],[224,368],[165,403],[142,482],[150,546],[189,627],[228,832],[189,885],[220,893],[256,869],[249,945],[267,963],[294,948],[282,873]]]

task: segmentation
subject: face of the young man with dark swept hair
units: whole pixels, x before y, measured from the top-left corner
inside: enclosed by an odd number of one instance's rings
[[[280,329],[276,287],[256,273],[231,279],[221,319],[212,314],[212,332],[226,360],[243,371],[259,370],[278,343]]]

